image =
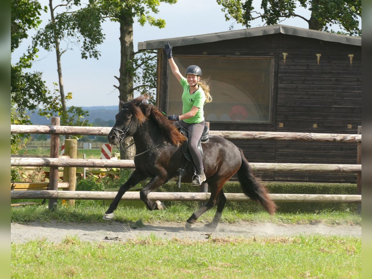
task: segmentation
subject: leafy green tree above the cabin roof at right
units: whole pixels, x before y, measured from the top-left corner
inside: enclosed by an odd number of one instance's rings
[[[361,0],[262,0],[261,9],[257,12],[253,0],[217,0],[222,5],[225,17],[250,28],[254,19],[262,19],[264,25],[278,24],[289,17],[305,20],[309,29],[328,31],[332,25],[339,25],[346,35],[361,36],[359,19],[362,17]],[[295,14],[296,7],[304,7],[311,11],[310,18]],[[330,30],[334,32],[333,30]]]

